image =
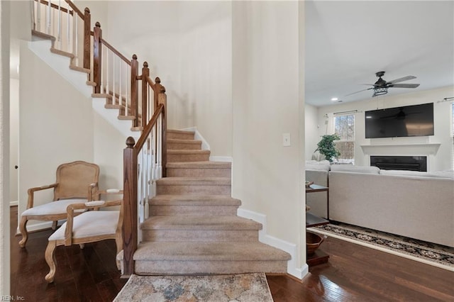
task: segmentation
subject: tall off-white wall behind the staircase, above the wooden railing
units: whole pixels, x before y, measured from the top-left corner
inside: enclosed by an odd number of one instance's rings
[[[211,155],[231,156],[231,3],[109,1],[108,10],[103,34],[165,86],[168,127],[196,126]]]

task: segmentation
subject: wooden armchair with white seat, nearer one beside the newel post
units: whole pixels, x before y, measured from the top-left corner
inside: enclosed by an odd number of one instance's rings
[[[109,190],[103,193],[111,193]],[[114,194],[123,194],[123,191],[114,191]],[[108,206],[120,206],[119,211],[96,211]],[[95,210],[95,211],[89,211]],[[74,216],[76,211],[84,211]],[[87,201],[86,203],[74,203],[67,206],[67,221],[49,237],[48,247],[45,250],[45,261],[49,265],[49,273],[45,280],[49,283],[54,281],[57,265],[55,263],[55,248],[59,245],[80,245],[97,242],[106,239],[116,240],[117,255],[123,249],[123,202],[117,201]],[[119,267],[117,261],[117,267]]]

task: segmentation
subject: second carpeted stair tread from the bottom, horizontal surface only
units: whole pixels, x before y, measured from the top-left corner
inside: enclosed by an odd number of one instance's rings
[[[152,216],[142,230],[261,230],[262,224],[238,216]]]

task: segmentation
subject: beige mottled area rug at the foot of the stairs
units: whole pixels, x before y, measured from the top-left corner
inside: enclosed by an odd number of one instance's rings
[[[260,301],[272,302],[264,273],[208,276],[133,275],[114,302]]]

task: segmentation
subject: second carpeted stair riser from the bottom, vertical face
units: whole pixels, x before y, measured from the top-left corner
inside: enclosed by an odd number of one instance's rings
[[[142,230],[153,242],[248,242],[258,240],[258,230]]]

